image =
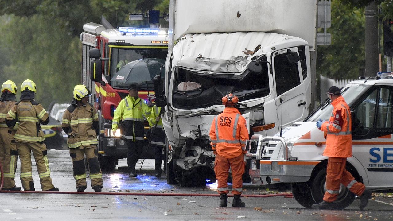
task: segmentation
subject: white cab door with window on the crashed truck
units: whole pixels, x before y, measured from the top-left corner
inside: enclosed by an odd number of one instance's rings
[[[290,63],[286,57],[289,52],[299,54],[298,48],[289,48],[277,51],[272,56],[274,96],[280,127],[301,121],[307,116],[306,89],[301,64],[300,61]]]

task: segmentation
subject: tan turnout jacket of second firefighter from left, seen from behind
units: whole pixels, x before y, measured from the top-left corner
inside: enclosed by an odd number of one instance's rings
[[[7,113],[6,123],[12,129],[17,121],[19,121],[19,126],[15,133],[16,142],[37,143],[45,140],[40,123],[48,124],[49,115],[42,105],[34,100],[22,100],[15,103]]]

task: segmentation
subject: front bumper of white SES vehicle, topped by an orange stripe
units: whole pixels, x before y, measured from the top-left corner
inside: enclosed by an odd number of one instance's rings
[[[307,182],[320,161],[260,160],[261,181],[264,184]]]

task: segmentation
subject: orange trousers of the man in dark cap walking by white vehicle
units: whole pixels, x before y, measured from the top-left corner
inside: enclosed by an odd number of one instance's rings
[[[323,200],[333,202],[337,199],[340,184],[346,186],[354,194],[361,196],[365,190],[364,184],[357,182],[351,173],[345,169],[347,158],[329,157],[326,169],[326,193]]]

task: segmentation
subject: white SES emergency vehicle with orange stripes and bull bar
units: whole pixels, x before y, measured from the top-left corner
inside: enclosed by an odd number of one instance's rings
[[[393,72],[352,81],[342,88],[351,108],[353,156],[346,169],[367,189],[393,189]],[[275,136],[253,135],[248,144],[249,174],[255,184],[290,183],[296,201],[306,208],[322,201],[326,191],[326,139],[316,122],[329,120],[333,106],[326,99],[303,121]],[[343,185],[336,209],[355,199]]]

